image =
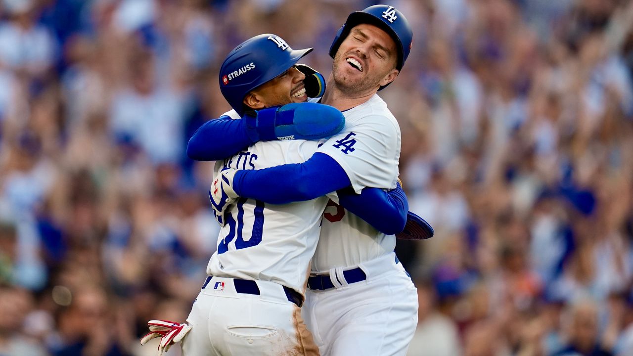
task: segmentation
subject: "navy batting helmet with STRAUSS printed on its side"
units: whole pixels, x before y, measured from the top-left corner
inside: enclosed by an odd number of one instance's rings
[[[230,51],[220,67],[220,91],[230,106],[244,115],[244,97],[284,73],[312,48],[294,50],[273,34],[257,35]]]

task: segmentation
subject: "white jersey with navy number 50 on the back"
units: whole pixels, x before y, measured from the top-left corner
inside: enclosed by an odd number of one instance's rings
[[[235,111],[225,115],[237,118]],[[261,169],[285,163],[302,163],[315,153],[318,142],[267,141],[250,146],[227,160],[218,161],[215,172],[225,167]],[[239,198],[229,208],[220,229],[218,250],[206,272],[210,276],[272,281],[303,293],[310,258],[319,238],[323,196],[308,201],[274,205]]]

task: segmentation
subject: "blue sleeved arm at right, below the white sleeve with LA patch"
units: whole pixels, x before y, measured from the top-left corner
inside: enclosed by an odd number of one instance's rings
[[[351,189],[338,191],[337,194],[342,207],[383,234],[394,235],[403,231],[409,202],[400,184],[389,192],[380,188],[364,188],[360,194]]]

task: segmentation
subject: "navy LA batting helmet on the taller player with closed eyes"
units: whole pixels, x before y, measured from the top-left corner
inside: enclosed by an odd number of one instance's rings
[[[396,69],[402,70],[404,61],[411,53],[413,45],[413,30],[404,15],[389,5],[374,5],[363,11],[356,11],[348,16],[348,20],[342,25],[339,32],[334,37],[334,42],[330,46],[330,57],[334,58],[336,51],[339,50],[341,43],[348,37],[349,31],[354,26],[361,23],[369,23],[384,30],[396,42],[398,49],[398,61],[396,61]],[[388,86],[389,84],[387,84]],[[386,86],[380,87],[383,89]],[[380,90],[379,89],[379,90]]]

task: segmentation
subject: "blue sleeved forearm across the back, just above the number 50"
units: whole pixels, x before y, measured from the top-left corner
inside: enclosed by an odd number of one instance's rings
[[[341,165],[325,153],[315,153],[303,163],[240,170],[233,178],[239,196],[272,204],[315,199],[350,184]]]

